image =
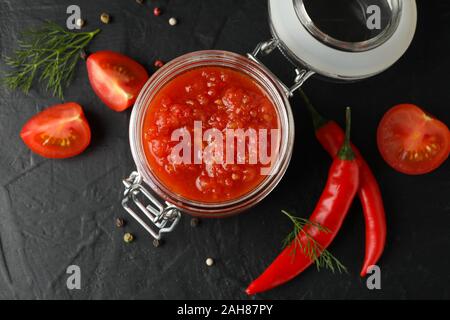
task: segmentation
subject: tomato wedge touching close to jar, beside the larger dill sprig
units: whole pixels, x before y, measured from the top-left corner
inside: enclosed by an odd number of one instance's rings
[[[91,54],[87,70],[92,89],[114,111],[131,107],[149,76],[133,59],[113,51]]]

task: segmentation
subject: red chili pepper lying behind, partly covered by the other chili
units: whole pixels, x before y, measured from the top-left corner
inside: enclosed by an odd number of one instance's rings
[[[305,93],[302,90],[300,92],[311,112],[317,140],[334,158],[339,151],[339,146],[344,141],[344,131],[336,122],[324,119],[313,107]],[[386,243],[386,217],[378,182],[358,149],[353,145],[352,148],[360,165],[358,195],[366,224],[366,255],[360,273],[361,277],[364,277],[367,274],[367,269],[376,264],[383,253]]]

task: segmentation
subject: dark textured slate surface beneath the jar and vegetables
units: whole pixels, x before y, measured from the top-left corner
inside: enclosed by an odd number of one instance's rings
[[[419,27],[412,48],[393,68],[353,84],[312,80],[306,91],[321,111],[342,123],[347,105],[354,110],[353,140],[381,183],[388,214],[388,245],[381,261],[382,290],[369,291],[358,276],[364,255],[364,224],[358,203],[331,250],[349,275],[313,268],[289,284],[262,294],[270,299],[450,298],[450,163],[420,177],[401,175],[380,158],[376,126],[392,105],[413,102],[450,123],[448,72],[450,5],[419,1]],[[74,1],[0,0],[0,50],[10,53],[18,33],[44,19],[64,23]],[[151,70],[156,58],[217,48],[245,53],[269,37],[266,1],[77,0],[88,21],[113,17],[102,26],[92,50],[124,52]],[[164,15],[151,13],[160,4]],[[179,25],[167,24],[170,16]],[[289,79],[285,61],[270,58],[272,69]],[[0,64],[0,69],[5,66]],[[80,65],[66,99],[78,101],[93,129],[93,142],[79,157],[52,161],[32,154],[19,131],[45,106],[58,103],[41,91],[29,95],[0,89],[0,298],[224,299],[246,298],[243,289],[271,262],[290,230],[280,214],[288,209],[308,216],[320,194],[330,160],[315,141],[309,116],[292,101],[297,132],[291,166],[277,189],[245,214],[202,221],[193,229],[185,216],[166,244],[151,239],[130,222],[136,234],[126,245],[114,218],[120,206],[121,179],[134,169],[128,145],[130,113],[107,109],[90,89]],[[206,257],[216,265],[206,267]],[[82,271],[82,289],[66,289],[66,268]]]

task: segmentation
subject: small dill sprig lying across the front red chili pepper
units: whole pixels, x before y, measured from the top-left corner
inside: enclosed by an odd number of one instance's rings
[[[335,271],[338,271],[339,273],[347,273],[347,268],[327,249],[323,248],[322,245],[318,243],[308,232],[305,231],[306,226],[317,228],[319,232],[324,233],[330,233],[330,229],[308,219],[294,217],[284,210],[281,212],[283,212],[294,224],[294,230],[290,232],[283,241],[284,248],[291,245],[291,243],[295,241],[291,254],[297,254],[297,250],[300,249],[302,254],[305,254],[309,259],[314,261],[317,270],[325,268],[331,270],[333,273]],[[298,237],[299,234],[304,235],[308,239],[306,244],[302,244],[300,241],[301,237]]]

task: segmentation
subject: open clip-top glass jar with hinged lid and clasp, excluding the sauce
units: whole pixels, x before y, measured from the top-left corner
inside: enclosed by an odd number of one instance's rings
[[[122,206],[155,239],[175,228],[181,212],[199,217],[229,216],[254,206],[275,188],[289,165],[294,143],[289,97],[307,79],[315,74],[342,81],[374,76],[393,65],[412,42],[417,23],[414,0],[343,0],[333,1],[333,7],[329,7],[330,3],[268,0],[272,38],[259,43],[251,54],[245,57],[217,50],[189,53],[167,63],[145,84],[130,122],[130,146],[137,171],[123,180]],[[321,16],[324,12],[329,15]],[[375,20],[369,23],[372,18]],[[336,25],[336,21],[348,23]],[[343,31],[341,26],[347,29]],[[275,49],[294,66],[291,86],[280,81],[260,60]],[[272,101],[281,129],[270,174],[247,194],[216,203],[192,201],[169,190],[148,165],[142,139],[144,116],[159,90],[184,72],[208,66],[234,69],[255,81]]]

